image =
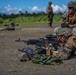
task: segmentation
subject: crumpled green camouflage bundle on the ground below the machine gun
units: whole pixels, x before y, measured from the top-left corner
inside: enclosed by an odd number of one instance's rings
[[[33,56],[32,62],[36,64],[55,65],[61,64],[62,59],[52,55],[36,54]]]

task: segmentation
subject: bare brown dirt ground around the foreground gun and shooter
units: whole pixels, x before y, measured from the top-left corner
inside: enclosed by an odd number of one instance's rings
[[[18,49],[27,45],[15,42],[16,39],[45,37],[53,33],[53,29],[45,25],[41,28],[39,26],[15,31],[0,31],[0,75],[76,75],[75,58],[64,61],[60,65],[41,65],[18,60]]]

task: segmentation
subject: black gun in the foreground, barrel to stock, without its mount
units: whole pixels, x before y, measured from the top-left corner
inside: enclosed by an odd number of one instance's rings
[[[38,47],[45,47],[46,41],[48,41],[48,45],[52,44],[52,46],[57,50],[59,40],[54,35],[46,35],[45,38],[39,38],[39,39],[28,39],[28,40],[21,40],[20,38],[18,40],[15,40],[16,42],[24,42],[27,45],[36,45]]]

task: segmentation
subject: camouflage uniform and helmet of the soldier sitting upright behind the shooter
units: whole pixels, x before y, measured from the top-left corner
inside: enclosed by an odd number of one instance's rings
[[[76,2],[75,1],[70,1],[68,3],[68,9],[73,9],[73,14],[70,13],[70,12],[67,12],[66,14],[63,14],[62,16],[62,23],[64,24],[67,24],[67,23],[70,23],[70,24],[76,24],[76,12],[75,12],[75,9],[76,9]]]

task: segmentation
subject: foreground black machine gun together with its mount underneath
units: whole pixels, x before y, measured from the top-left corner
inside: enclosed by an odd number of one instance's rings
[[[56,36],[53,35],[47,35],[46,38],[39,38],[39,39],[28,39],[28,40],[21,40],[20,38],[18,40],[15,40],[16,42],[24,42],[27,45],[35,45],[36,50],[40,50],[39,52],[45,53],[47,55],[52,54],[51,50],[52,47],[57,50],[59,40],[56,38]],[[38,53],[39,53],[38,52]]]

